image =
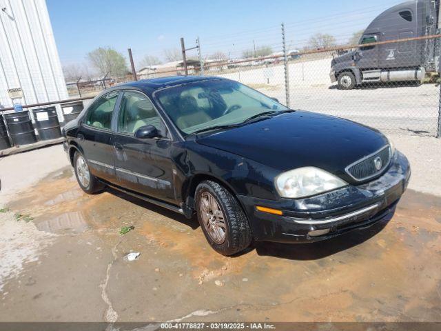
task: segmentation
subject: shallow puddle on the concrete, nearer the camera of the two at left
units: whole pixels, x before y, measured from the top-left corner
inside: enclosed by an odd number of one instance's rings
[[[66,212],[57,217],[36,222],[37,229],[55,234],[76,234],[89,230],[83,212]]]

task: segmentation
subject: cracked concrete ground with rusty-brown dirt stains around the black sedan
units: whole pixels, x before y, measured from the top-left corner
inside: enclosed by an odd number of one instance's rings
[[[36,154],[48,151],[62,163],[60,146]],[[228,258],[196,219],[119,192],[84,194],[67,160],[53,168],[6,188],[0,321],[441,321],[435,195],[407,190],[369,230]]]

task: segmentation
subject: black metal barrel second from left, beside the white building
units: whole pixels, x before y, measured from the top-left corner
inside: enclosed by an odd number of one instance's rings
[[[10,137],[15,146],[27,145],[37,141],[34,126],[32,126],[28,111],[11,112],[4,114],[4,117],[8,124]]]

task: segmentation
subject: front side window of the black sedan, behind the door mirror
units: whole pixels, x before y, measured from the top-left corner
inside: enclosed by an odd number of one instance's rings
[[[165,125],[144,94],[126,91],[121,98],[118,131],[134,134],[141,126],[154,126],[165,136]]]

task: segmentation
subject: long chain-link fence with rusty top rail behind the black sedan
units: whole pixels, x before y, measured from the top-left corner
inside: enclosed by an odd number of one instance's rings
[[[427,57],[428,49],[440,43],[439,34],[387,42],[368,39],[361,45],[304,52],[287,50],[281,43],[271,56],[205,61],[202,66],[200,57],[188,60],[187,72],[176,61],[173,68],[143,72],[138,79],[224,77],[293,109],[342,117],[386,133],[440,137],[440,76]],[[436,52],[439,56],[439,47]],[[71,97],[86,97],[132,80],[129,74],[68,87]]]

